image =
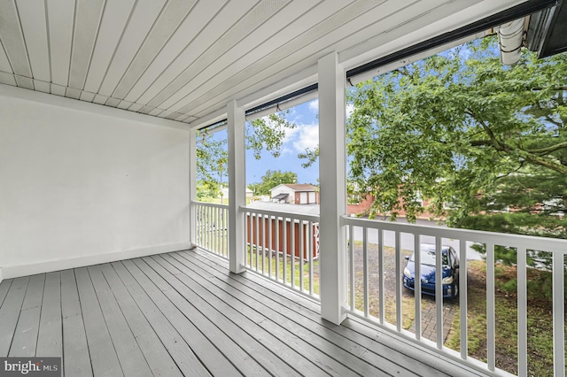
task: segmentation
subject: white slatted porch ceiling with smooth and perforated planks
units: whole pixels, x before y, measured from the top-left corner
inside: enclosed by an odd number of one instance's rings
[[[0,83],[197,125],[522,2],[0,0]]]

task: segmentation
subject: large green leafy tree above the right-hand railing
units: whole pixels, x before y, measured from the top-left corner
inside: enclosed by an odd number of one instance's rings
[[[566,236],[567,56],[497,51],[470,42],[348,93],[348,178],[372,213],[415,219],[421,194],[453,226]]]

